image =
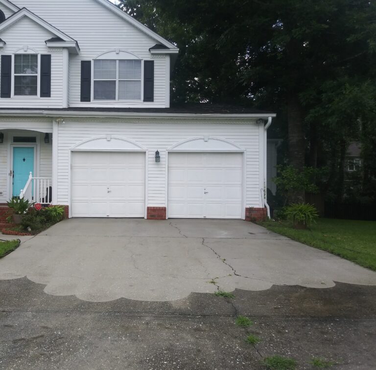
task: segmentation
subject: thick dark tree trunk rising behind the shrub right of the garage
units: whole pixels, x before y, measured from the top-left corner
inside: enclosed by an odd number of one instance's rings
[[[296,96],[289,96],[287,100],[288,120],[288,157],[291,166],[303,171],[305,158],[305,140],[303,133],[302,109]],[[290,191],[287,195],[290,203],[303,203],[304,191]]]

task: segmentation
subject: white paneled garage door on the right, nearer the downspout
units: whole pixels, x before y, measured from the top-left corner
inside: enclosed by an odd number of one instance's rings
[[[242,153],[169,153],[168,217],[241,218]]]

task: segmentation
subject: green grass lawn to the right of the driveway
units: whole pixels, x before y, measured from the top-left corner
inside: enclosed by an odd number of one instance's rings
[[[309,230],[296,230],[288,221],[262,226],[376,271],[376,221],[319,218]]]

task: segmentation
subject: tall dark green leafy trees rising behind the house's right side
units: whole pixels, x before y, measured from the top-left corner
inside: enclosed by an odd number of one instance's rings
[[[174,101],[267,103],[284,112],[289,163],[302,170],[324,156],[319,165],[331,164],[343,187],[348,143],[361,138],[359,118],[375,122],[375,1],[123,0],[120,6],[179,45]],[[300,193],[290,200],[303,199]]]

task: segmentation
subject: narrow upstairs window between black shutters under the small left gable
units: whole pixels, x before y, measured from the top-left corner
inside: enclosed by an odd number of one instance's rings
[[[38,54],[14,55],[14,95],[38,95]]]

